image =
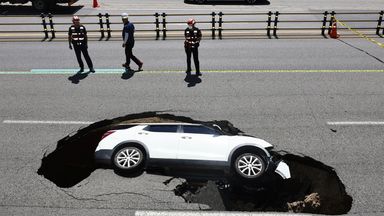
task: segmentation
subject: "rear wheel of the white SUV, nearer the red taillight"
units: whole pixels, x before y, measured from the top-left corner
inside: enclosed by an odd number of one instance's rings
[[[121,146],[112,155],[113,167],[119,173],[129,174],[142,171],[144,163],[144,151],[136,146]]]

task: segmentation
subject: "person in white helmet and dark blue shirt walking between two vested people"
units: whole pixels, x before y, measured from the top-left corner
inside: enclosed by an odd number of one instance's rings
[[[134,56],[132,53],[133,46],[135,45],[135,26],[133,25],[133,23],[128,21],[127,13],[121,14],[121,19],[124,23],[122,37],[124,41],[123,47],[125,48],[125,63],[123,64],[123,67],[125,67],[127,71],[131,71],[132,69],[129,65],[132,59],[139,66],[138,70],[141,71],[143,68],[143,62],[136,58],[136,56]]]

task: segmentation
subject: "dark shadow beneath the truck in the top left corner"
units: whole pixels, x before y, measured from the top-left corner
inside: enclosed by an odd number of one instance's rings
[[[32,6],[28,5],[1,5],[0,15],[40,15],[41,13],[52,14],[75,14],[84,6],[62,6],[57,5],[52,9],[46,11],[35,10]]]

